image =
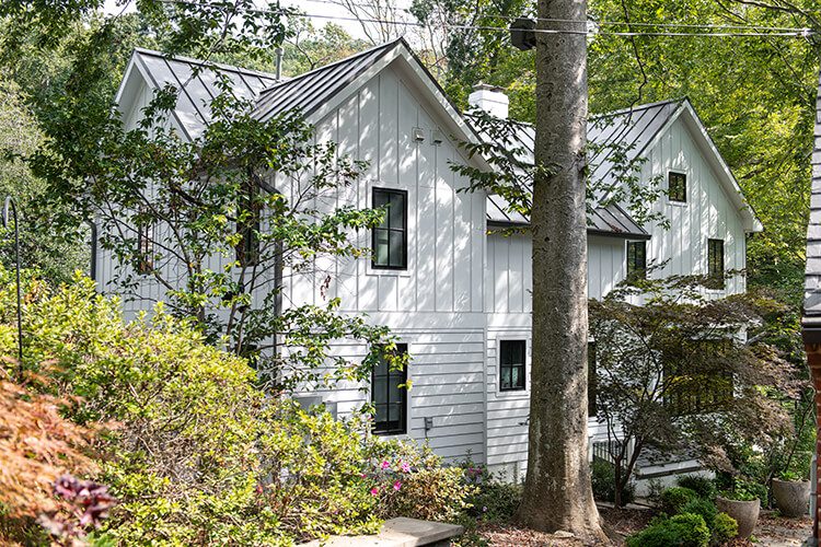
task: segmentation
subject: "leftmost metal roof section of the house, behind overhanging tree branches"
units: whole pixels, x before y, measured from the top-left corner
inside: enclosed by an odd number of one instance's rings
[[[186,57],[169,57],[150,49],[136,49],[135,59],[142,66],[152,85],[164,88],[171,84],[180,90],[174,115],[192,139],[198,137],[211,121],[211,101],[219,95],[218,72],[231,80],[232,90],[238,96],[252,101],[263,90],[277,83],[274,74]]]

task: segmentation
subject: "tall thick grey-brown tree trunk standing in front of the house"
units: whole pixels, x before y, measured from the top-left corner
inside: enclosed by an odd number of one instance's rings
[[[536,28],[583,31],[586,12],[585,0],[539,0]],[[588,464],[586,125],[585,34],[537,33],[533,364],[519,519],[605,540]]]

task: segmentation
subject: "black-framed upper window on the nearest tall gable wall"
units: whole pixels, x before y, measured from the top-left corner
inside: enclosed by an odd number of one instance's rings
[[[373,229],[372,267],[407,268],[407,191],[373,188],[373,208],[385,208],[382,223]]]

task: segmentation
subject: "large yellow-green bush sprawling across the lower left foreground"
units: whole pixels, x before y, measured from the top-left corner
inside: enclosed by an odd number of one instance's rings
[[[16,349],[10,299],[0,287],[4,356]],[[67,416],[112,424],[94,478],[120,504],[100,542],[288,545],[374,532],[389,515],[448,520],[474,494],[463,470],[428,449],[381,442],[361,420],[266,396],[243,359],[162,307],[125,324],[119,303],[89,280],[56,291],[32,283],[24,328],[25,368],[81,401]],[[401,485],[371,476],[375,454]]]

